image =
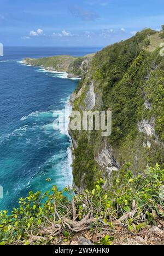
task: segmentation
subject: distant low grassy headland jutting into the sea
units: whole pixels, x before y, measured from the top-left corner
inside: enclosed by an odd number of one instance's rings
[[[94,54],[88,54],[83,57],[73,57],[70,55],[58,55],[39,59],[24,59],[26,65],[43,67],[49,71],[66,72],[68,77],[81,77],[85,65],[88,64]]]

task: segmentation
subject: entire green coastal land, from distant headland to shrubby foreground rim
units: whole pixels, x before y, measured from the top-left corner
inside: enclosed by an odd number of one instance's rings
[[[74,188],[51,184],[21,197],[10,214],[1,211],[1,245],[164,244],[164,57],[157,42],[164,42],[161,32],[147,29],[94,56],[25,60],[81,76],[73,110],[112,110],[112,135],[69,129]]]

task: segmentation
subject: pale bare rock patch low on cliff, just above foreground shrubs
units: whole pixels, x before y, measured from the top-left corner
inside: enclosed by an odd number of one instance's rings
[[[112,147],[107,144],[105,144],[104,147],[98,152],[95,160],[99,166],[105,168],[109,174],[112,172],[112,170],[119,170],[118,164],[113,156]]]

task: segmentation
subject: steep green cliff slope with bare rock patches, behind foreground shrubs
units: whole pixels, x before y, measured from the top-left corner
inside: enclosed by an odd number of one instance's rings
[[[100,175],[111,184],[125,162],[134,174],[147,165],[163,166],[164,57],[154,38],[160,33],[147,29],[110,45],[84,72],[71,98],[73,110],[112,110],[112,135],[69,130],[76,186],[91,188]]]

